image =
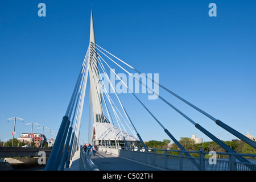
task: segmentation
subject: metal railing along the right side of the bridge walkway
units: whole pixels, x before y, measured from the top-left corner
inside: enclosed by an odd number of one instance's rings
[[[230,152],[181,151],[144,148],[100,146],[101,151],[133,159],[153,166],[179,171],[256,171],[256,154],[238,154]],[[183,155],[188,152],[193,157]],[[207,156],[208,155],[208,156]],[[218,159],[218,156],[226,158]],[[240,162],[236,156],[254,158],[254,163]],[[207,157],[207,158],[205,158]]]

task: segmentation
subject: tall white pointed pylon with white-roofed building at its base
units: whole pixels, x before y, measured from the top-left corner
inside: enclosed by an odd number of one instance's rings
[[[117,111],[114,109],[111,98],[109,97],[108,92],[105,90],[105,86],[99,80],[99,69],[98,69],[98,58],[97,51],[95,48],[95,34],[94,34],[94,24],[93,24],[93,13],[91,10],[90,17],[90,44],[89,44],[89,77],[90,77],[90,98],[89,98],[89,127],[88,127],[88,142],[94,144],[105,144],[105,145],[115,145],[115,146],[125,146],[129,145],[131,147],[138,146],[140,141],[139,138],[135,137],[135,131],[133,126],[129,126],[129,134],[121,119],[117,115]],[[101,68],[103,65],[101,65]],[[106,75],[106,77],[108,77]],[[110,82],[111,84],[111,82]],[[114,90],[115,92],[115,90]],[[115,113],[115,119],[119,127],[113,125],[112,117],[110,116],[109,108],[106,104],[106,100],[109,101],[112,106],[113,112]],[[116,95],[117,96],[117,95]],[[103,102],[102,102],[103,101]],[[120,102],[121,104],[121,102]],[[104,114],[103,107],[107,113]],[[123,107],[123,106],[122,106]],[[123,108],[124,109],[124,108]],[[118,111],[119,112],[119,111]],[[120,113],[120,112],[119,112]],[[126,114],[126,113],[125,113]],[[108,116],[108,118],[106,118]],[[118,119],[119,118],[119,119]],[[127,119],[129,119],[127,117]],[[131,121],[129,121],[131,122]],[[126,122],[127,123],[127,122]],[[128,147],[128,146],[127,146]]]

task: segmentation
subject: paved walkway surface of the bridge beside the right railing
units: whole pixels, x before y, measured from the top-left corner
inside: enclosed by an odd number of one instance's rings
[[[162,168],[100,152],[90,158],[100,171],[161,171]]]

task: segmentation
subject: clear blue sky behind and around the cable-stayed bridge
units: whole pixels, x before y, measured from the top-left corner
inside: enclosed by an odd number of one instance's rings
[[[38,16],[41,2],[46,17]],[[211,2],[217,17],[208,15]],[[16,124],[16,137],[31,131],[25,126],[30,122],[59,130],[88,48],[91,5],[99,46],[143,73],[159,73],[160,84],[256,137],[255,1],[5,0],[0,2],[2,141],[12,138],[14,123],[7,119],[15,116],[24,119]],[[236,139],[171,94],[159,93],[220,139]],[[144,141],[168,139],[131,94],[120,98]],[[196,134],[210,140],[160,100],[144,102],[176,139]],[[88,106],[86,98],[84,109]],[[87,127],[85,111],[84,141]]]

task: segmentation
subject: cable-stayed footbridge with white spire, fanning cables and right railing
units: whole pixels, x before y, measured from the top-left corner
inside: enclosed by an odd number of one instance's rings
[[[162,122],[155,116],[153,111],[148,109],[146,104],[144,104],[134,94],[133,89],[129,87],[130,85],[127,86],[127,82],[123,81],[122,78],[114,72],[114,68],[109,64],[110,62],[137,80],[137,82],[139,82],[142,87],[146,88],[148,92],[152,93],[153,96],[163,101],[168,107],[175,110],[182,117],[187,119],[187,121],[192,124],[192,126],[196,127],[197,130],[207,135],[207,137],[216,142],[220,147],[224,148],[226,151],[225,154],[229,155],[229,160],[226,164],[220,163],[220,165],[217,167],[218,169],[256,169],[255,164],[251,163],[245,158],[245,156],[254,155],[238,154],[231,147],[226,145],[224,142],[206,130],[203,126],[199,125],[199,123],[193,121],[193,119],[189,118],[188,115],[168,102],[166,98],[161,96],[159,92],[152,88],[152,85],[146,85],[146,83],[143,82],[143,79],[136,77],[135,74],[127,71],[127,69],[131,69],[135,73],[138,73],[140,76],[144,77],[144,79],[154,82],[154,84],[159,86],[159,88],[166,90],[166,92],[172,96],[175,96],[180,101],[184,102],[199,113],[211,119],[216,123],[216,125],[222,127],[222,129],[225,129],[226,132],[233,134],[237,138],[243,140],[243,142],[256,149],[256,143],[253,140],[245,137],[237,130],[234,130],[232,127],[226,125],[224,122],[221,122],[219,119],[214,118],[204,110],[201,110],[199,107],[191,104],[191,102],[184,100],[184,98],[172,92],[166,86],[159,84],[158,80],[155,78],[153,79],[152,77],[143,74],[141,71],[138,71],[133,66],[127,64],[125,61],[119,59],[117,56],[114,56],[112,53],[106,51],[106,49],[96,44],[93,13],[91,11],[89,46],[85,55],[85,59],[82,63],[79,77],[77,78],[76,85],[71,96],[71,100],[69,101],[66,113],[61,122],[55,144],[51,151],[51,155],[49,156],[46,166],[47,171],[64,170],[64,168],[69,168],[70,162],[72,158],[77,155],[78,149],[80,158],[82,159],[81,162],[83,163],[82,166],[94,166],[92,160],[95,160],[96,157],[93,156],[92,159],[88,159],[86,152],[83,151],[82,147],[79,147],[81,117],[86,91],[89,92],[88,138],[91,143],[100,146],[100,152],[104,152],[101,153],[101,155],[104,155],[105,152],[107,152],[108,154],[115,154],[123,158],[138,160],[142,163],[159,166],[166,169],[212,169],[210,166],[207,167],[206,165],[209,163],[209,161],[204,158],[206,153],[203,151],[203,149],[197,152],[199,154],[199,158],[192,157],[191,153],[193,152],[185,150],[185,148],[171,134],[171,132],[167,130],[167,126],[164,126]],[[179,155],[173,156],[168,153],[170,152],[168,150],[152,150],[146,147],[143,138],[139,134],[139,131],[136,129],[134,122],[129,117],[129,113],[127,113],[125,105],[122,104],[122,101],[118,97],[117,90],[115,89],[110,76],[107,74],[106,69],[109,69],[112,72],[111,74],[114,74],[115,77],[118,78],[120,81],[119,83],[122,84],[122,88],[129,90],[129,93],[133,94],[135,99],[138,101],[137,104],[144,107],[147,113],[151,115],[151,117],[155,120],[156,123],[158,123],[158,125],[160,125],[162,131],[164,131],[164,133],[170,137],[170,139],[177,145],[177,147],[180,148]],[[90,82],[90,87],[89,90],[86,90],[88,80]],[[109,85],[110,90],[114,94],[115,98],[110,97]],[[162,151],[162,154],[160,155],[161,152],[157,151]],[[175,165],[173,166],[173,164],[175,164],[176,167],[174,167]],[[187,166],[192,167],[188,168]]]

